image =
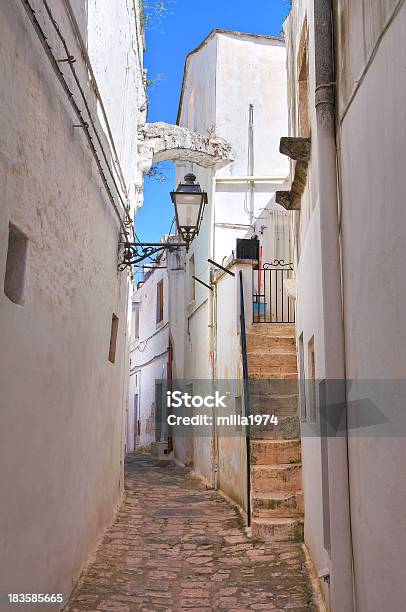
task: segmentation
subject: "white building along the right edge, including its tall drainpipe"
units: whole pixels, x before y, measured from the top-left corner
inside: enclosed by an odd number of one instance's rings
[[[303,193],[290,199],[299,365],[306,384],[323,381],[318,395],[302,395],[305,541],[333,611],[395,612],[406,600],[406,445],[396,422],[406,374],[406,5],[361,4],[294,0],[285,24],[289,135],[311,138],[307,180],[292,163]],[[323,392],[327,404],[350,402],[335,438],[306,434],[320,423]],[[365,397],[386,427],[359,421]]]

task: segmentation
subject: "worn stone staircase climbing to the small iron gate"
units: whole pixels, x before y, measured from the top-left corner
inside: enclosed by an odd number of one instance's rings
[[[251,511],[254,537],[303,540],[303,493],[295,326],[262,323],[247,330],[250,408],[278,425],[251,428]]]

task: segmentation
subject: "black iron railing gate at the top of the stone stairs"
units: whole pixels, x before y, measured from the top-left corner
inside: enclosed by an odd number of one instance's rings
[[[252,270],[253,323],[294,323],[295,306],[284,281],[293,278],[293,264],[275,259]]]

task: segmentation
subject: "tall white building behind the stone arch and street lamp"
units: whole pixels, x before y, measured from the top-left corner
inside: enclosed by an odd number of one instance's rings
[[[192,171],[208,193],[198,237],[187,254],[185,385],[199,380],[237,381],[240,403],[241,349],[238,273],[244,276],[246,317],[252,322],[252,263],[236,259],[237,238],[257,235],[263,262],[291,261],[290,213],[275,204],[275,192],[289,185],[288,160],[279,152],[287,130],[286,50],[282,39],[214,30],[185,64],[178,124],[228,142],[231,163],[212,169],[178,163],[177,182]],[[234,255],[233,255],[234,253]],[[230,266],[236,277],[220,276],[208,259]],[[193,280],[193,276],[213,291]],[[175,437],[175,457],[184,452]],[[223,445],[223,446],[222,446]],[[246,454],[242,436],[193,439],[195,471],[247,507]]]

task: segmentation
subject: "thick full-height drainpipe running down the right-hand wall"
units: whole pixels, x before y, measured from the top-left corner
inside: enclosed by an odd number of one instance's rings
[[[324,404],[345,406],[345,353],[335,137],[335,76],[332,0],[314,0],[315,106],[318,195],[320,202],[321,283],[325,347]],[[345,412],[345,410],[344,410]],[[342,415],[345,418],[345,414]],[[327,419],[328,422],[328,419]],[[328,426],[328,425],[327,425]],[[327,435],[326,494],[331,556],[330,597],[334,612],[353,612],[352,543],[348,480],[348,438]]]

